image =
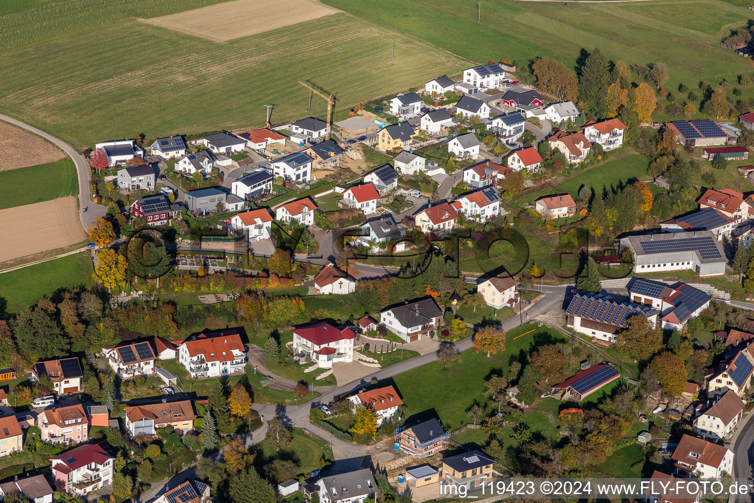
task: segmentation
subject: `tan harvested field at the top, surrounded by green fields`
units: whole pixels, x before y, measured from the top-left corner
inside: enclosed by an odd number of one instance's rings
[[[224,42],[336,12],[341,11],[314,0],[236,0],[140,21]]]

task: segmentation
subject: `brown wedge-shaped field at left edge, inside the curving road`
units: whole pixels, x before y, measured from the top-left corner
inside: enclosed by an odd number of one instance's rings
[[[20,127],[0,121],[0,171],[35,166],[64,157],[65,152],[52,143]]]

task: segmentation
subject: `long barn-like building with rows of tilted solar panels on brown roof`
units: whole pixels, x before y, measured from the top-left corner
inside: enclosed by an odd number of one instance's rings
[[[627,320],[632,316],[647,318],[650,327],[657,325],[657,309],[649,306],[615,302],[611,296],[601,293],[572,290],[571,302],[566,308],[567,324],[575,332],[615,342],[618,333],[628,327]]]

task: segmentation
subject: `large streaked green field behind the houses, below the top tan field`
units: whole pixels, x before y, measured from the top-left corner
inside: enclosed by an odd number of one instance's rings
[[[131,19],[80,29],[0,55],[0,66],[13,68],[0,81],[0,109],[78,149],[135,133],[151,140],[258,126],[265,121],[262,101],[276,104],[274,123],[324,118],[326,102],[317,98],[308,110],[308,90],[298,81],[332,93],[337,111],[467,64],[347,14],[222,44]],[[393,40],[396,59],[390,66]],[[259,92],[251,95],[249,89]]]

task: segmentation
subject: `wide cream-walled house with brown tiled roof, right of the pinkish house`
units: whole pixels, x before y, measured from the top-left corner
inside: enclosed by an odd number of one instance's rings
[[[167,425],[172,426],[179,435],[189,433],[194,430],[194,419],[197,417],[191,400],[136,405],[126,407],[124,413],[126,431],[132,437],[156,435],[159,428]]]

